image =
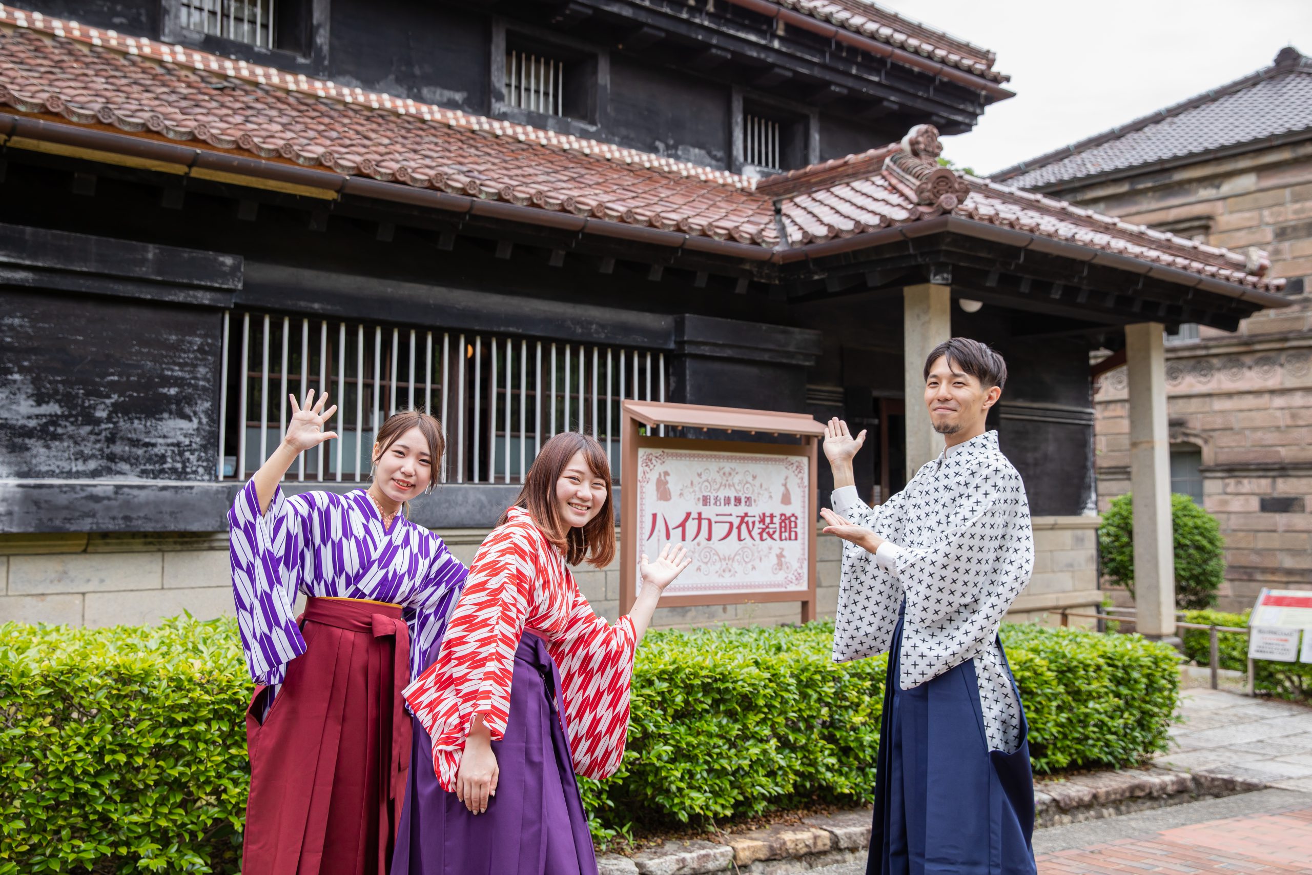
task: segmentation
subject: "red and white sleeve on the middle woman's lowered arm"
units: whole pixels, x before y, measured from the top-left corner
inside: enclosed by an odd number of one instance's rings
[[[475,715],[505,736],[514,651],[523,634],[538,571],[531,522],[512,521],[483,542],[446,624],[437,661],[405,687],[405,702],[433,739],[438,783],[455,791],[461,753]]]

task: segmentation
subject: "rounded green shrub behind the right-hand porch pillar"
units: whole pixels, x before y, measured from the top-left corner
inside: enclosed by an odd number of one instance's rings
[[[1225,580],[1225,540],[1216,517],[1182,493],[1170,496],[1176,552],[1176,606],[1202,610],[1216,603]],[[1131,493],[1111,500],[1098,526],[1102,573],[1135,594],[1134,504]]]

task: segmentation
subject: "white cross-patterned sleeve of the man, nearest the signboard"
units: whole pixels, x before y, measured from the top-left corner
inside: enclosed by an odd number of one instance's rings
[[[865,526],[880,538],[897,543],[905,516],[904,492],[888,497],[878,508],[859,499],[834,510],[848,522]],[[875,656],[888,649],[897,626],[897,606],[903,588],[875,561],[875,555],[850,542],[842,542],[842,575],[838,579],[838,607],[833,626],[833,661],[846,662]]]

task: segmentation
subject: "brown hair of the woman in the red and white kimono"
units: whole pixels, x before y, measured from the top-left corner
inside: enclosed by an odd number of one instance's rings
[[[606,504],[581,529],[564,522],[556,504],[556,480],[575,453],[583,453],[588,467],[606,484]],[[565,561],[571,565],[586,559],[589,565],[601,568],[615,558],[615,509],[610,500],[610,460],[601,445],[586,434],[562,432],[547,441],[529,467],[529,476],[523,479],[523,488],[520,489],[514,506],[529,512],[533,522],[558,550],[565,554]],[[505,525],[509,516],[509,510],[501,514],[497,525]]]

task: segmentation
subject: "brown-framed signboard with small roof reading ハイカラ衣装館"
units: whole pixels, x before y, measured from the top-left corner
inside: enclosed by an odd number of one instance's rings
[[[707,437],[655,437],[663,425]],[[621,611],[638,596],[639,556],[677,543],[693,563],[663,607],[800,602],[802,621],[815,619],[824,425],[804,413],[625,401],[621,428]]]

